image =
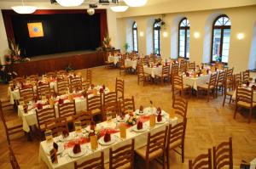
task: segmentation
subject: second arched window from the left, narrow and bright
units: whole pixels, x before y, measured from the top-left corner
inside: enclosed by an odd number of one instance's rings
[[[160,22],[153,25],[153,47],[154,54],[160,55]]]

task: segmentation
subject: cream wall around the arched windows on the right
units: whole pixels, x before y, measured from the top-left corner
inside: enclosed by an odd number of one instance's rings
[[[255,47],[254,49],[251,49],[253,26],[256,21],[255,5],[239,8],[222,8],[197,12],[166,14],[164,21],[167,24],[166,31],[168,37],[161,37],[161,55],[165,58],[177,57],[177,26],[178,22],[183,17],[187,17],[190,22],[190,60],[195,61],[196,64],[209,62],[211,56],[212,22],[219,14],[227,14],[231,20],[229,66],[236,67],[235,71],[248,69],[250,51],[255,51]],[[150,23],[148,20],[154,20],[159,17],[159,15],[132,16],[133,20],[138,20],[138,31],[146,32],[146,36],[138,38],[139,53],[148,54],[152,51],[153,25],[148,24]],[[125,17],[120,18],[119,21],[130,19],[130,17]],[[126,28],[122,27],[122,29]],[[195,31],[200,33],[200,37],[197,39],[194,37]],[[238,33],[244,33],[244,39],[238,40],[236,38]],[[119,40],[125,38],[125,36],[126,35],[119,35]],[[253,56],[255,56],[255,54]],[[253,67],[250,68],[252,69]]]

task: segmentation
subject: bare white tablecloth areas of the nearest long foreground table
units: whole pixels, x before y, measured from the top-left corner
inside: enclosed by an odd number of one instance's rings
[[[114,120],[113,120],[114,121]],[[115,127],[116,124],[114,122],[102,122],[97,127]],[[135,138],[135,149],[139,149],[143,147],[144,145],[147,144],[147,138],[148,138],[148,132],[159,132],[160,130],[164,130],[167,125],[171,123],[173,126],[177,124],[177,117],[170,119],[169,121],[169,115],[166,114],[166,122],[162,124],[156,124],[154,128],[151,128],[150,130],[148,129],[145,132],[132,132],[131,128],[126,129],[126,138],[122,139],[119,138],[119,132],[111,134],[112,139],[115,138],[116,142],[112,145],[108,146],[102,146],[99,144],[98,149],[96,149],[94,152],[90,150],[90,143],[89,144],[81,144],[81,148],[86,149],[86,153],[83,156],[80,156],[78,158],[71,158],[69,155],[66,155],[68,151],[72,150],[72,148],[65,149],[63,152],[63,156],[61,157],[58,155],[58,163],[57,164],[52,164],[50,159],[49,159],[49,149],[52,148],[52,143],[47,143],[46,141],[43,141],[40,143],[40,148],[39,148],[39,155],[40,159],[45,162],[45,164],[49,168],[61,168],[61,169],[73,169],[73,162],[78,161],[79,163],[82,161],[89,160],[92,157],[95,157],[96,155],[99,154],[100,151],[104,152],[104,161],[108,162],[109,158],[109,148],[112,147],[115,149],[116,147],[125,145],[125,144],[131,144],[131,138]],[[149,126],[149,121],[144,122],[146,126]],[[75,135],[74,132],[70,133],[70,135]],[[116,136],[114,136],[116,135]]]

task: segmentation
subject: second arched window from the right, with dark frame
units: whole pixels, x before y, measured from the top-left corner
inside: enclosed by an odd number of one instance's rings
[[[178,56],[189,58],[189,20],[183,18],[178,25]]]

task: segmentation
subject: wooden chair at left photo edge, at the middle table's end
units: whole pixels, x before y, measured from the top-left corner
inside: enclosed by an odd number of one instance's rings
[[[23,123],[18,119],[18,121],[5,121],[5,117],[3,115],[3,107],[2,107],[2,101],[0,100],[0,117],[3,121],[3,127],[5,129],[6,137],[8,144],[10,144],[10,136],[14,135],[16,133],[24,132],[23,131]]]

